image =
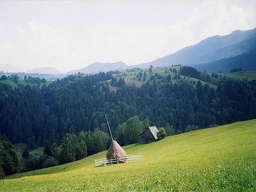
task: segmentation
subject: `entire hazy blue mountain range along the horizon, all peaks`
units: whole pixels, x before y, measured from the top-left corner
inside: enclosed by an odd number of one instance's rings
[[[256,70],[256,28],[246,31],[236,30],[226,36],[212,36],[201,42],[187,46],[177,52],[155,59],[148,63],[128,66],[123,62],[100,63],[95,62],[82,69],[76,69],[65,73],[64,75],[74,73],[98,73],[100,71],[125,71],[133,67],[149,68],[164,67],[171,65],[193,66],[200,71],[216,73],[219,71],[229,72],[230,69],[242,67],[244,70]],[[250,59],[251,58],[251,59]],[[6,64],[5,64],[6,65]],[[0,64],[0,70],[16,72],[14,66]],[[51,73],[61,74],[54,68],[37,68],[26,71],[29,73]]]

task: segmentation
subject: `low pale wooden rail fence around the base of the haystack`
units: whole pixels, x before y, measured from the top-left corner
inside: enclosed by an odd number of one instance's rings
[[[134,162],[134,161],[142,161],[142,155],[127,155],[127,157],[122,157],[119,159],[95,159],[94,160],[94,166],[100,167],[100,166],[107,166],[111,164],[119,164],[123,162]]]

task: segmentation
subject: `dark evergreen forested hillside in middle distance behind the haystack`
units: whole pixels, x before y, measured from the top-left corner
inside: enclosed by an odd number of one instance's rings
[[[52,150],[59,150],[57,145],[62,145],[58,158],[66,156],[61,155],[63,146],[72,137],[77,148],[71,159],[59,160],[65,163],[81,159],[77,154],[83,142],[85,156],[107,149],[105,114],[121,145],[138,142],[139,133],[149,125],[164,127],[173,135],[191,127],[256,118],[255,81],[210,75],[186,66],[180,72],[165,72],[166,76],[160,76],[145,71],[144,76],[151,77],[141,86],[126,85],[123,77],[116,79],[109,72],[78,73],[42,87],[19,85],[13,89],[0,83],[1,137],[12,143],[25,142],[31,149],[50,144]],[[200,80],[193,83],[192,78]],[[114,90],[113,85],[117,86]],[[53,158],[52,153],[48,156]]]

